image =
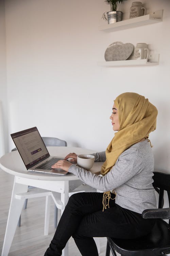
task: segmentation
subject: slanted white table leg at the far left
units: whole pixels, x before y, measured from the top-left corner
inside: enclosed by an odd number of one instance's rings
[[[10,251],[10,247],[14,238],[19,216],[21,214],[22,207],[25,201],[25,199],[20,199],[20,200],[16,199],[15,194],[26,193],[27,191],[28,191],[28,185],[22,185],[22,184],[16,183],[16,177],[15,177],[1,256],[7,256]]]

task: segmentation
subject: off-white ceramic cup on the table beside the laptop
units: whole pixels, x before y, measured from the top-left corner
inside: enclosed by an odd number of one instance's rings
[[[92,155],[78,155],[77,164],[79,167],[86,169],[87,171],[94,165],[95,157]]]

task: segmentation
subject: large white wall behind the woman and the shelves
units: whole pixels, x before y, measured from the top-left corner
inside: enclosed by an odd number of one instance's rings
[[[132,2],[122,5],[124,17]],[[8,134],[37,126],[41,136],[64,139],[68,146],[105,150],[114,136],[113,100],[133,91],[158,109],[150,139],[156,168],[169,172],[170,2],[143,3],[150,10],[164,9],[163,22],[106,33],[98,29],[109,11],[104,0],[6,0]],[[160,53],[159,65],[97,66],[115,41],[147,43]]]

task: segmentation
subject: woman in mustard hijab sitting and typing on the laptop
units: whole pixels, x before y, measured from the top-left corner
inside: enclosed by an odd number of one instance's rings
[[[156,129],[156,116],[157,109],[144,96],[123,93],[114,101],[110,117],[118,132],[106,152],[94,154],[96,161],[105,161],[102,176],[66,161],[70,157],[75,161],[75,153],[52,166],[105,192],[70,197],[45,256],[61,255],[71,236],[83,256],[98,256],[93,237],[133,239],[150,232],[155,221],[143,219],[141,213],[156,208],[154,158],[148,139]]]

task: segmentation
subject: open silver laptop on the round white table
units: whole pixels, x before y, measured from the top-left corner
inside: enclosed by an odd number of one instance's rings
[[[12,133],[11,137],[28,171],[57,175],[68,173],[61,168],[51,168],[54,163],[63,158],[50,156],[37,127]]]

